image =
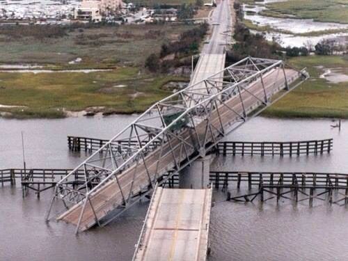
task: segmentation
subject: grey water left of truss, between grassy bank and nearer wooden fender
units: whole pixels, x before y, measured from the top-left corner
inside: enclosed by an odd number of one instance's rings
[[[0,118],[0,168],[22,166],[22,131],[26,165],[29,168],[72,168],[86,155],[84,152],[68,152],[68,135],[110,139],[135,118],[136,115],[56,120]]]

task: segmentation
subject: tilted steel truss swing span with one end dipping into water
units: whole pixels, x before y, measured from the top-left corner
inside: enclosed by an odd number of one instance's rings
[[[247,57],[164,98],[56,184],[45,219],[60,203],[57,219],[76,232],[104,226],[164,182],[164,173],[204,156],[307,78],[283,61]]]

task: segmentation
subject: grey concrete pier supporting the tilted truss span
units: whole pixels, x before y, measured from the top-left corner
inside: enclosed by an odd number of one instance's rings
[[[207,155],[193,161],[179,173],[180,189],[206,189],[209,182],[210,162],[212,156]]]

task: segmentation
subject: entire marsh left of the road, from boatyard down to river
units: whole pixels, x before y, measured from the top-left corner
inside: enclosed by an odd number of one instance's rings
[[[0,104],[26,106],[0,108],[15,118],[63,117],[63,109],[81,111],[104,106],[103,111],[144,111],[169,94],[161,87],[182,80],[144,70],[145,59],[159,53],[164,42],[177,40],[195,25],[146,24],[101,26],[67,30],[63,37],[1,34],[0,64],[40,64],[54,70],[112,68],[107,72],[13,73],[0,72]],[[39,28],[40,29],[40,28]],[[40,38],[37,36],[40,35]],[[10,44],[8,44],[10,42]],[[81,63],[69,64],[76,58]],[[187,80],[187,79],[185,79]],[[125,87],[115,87],[115,86]]]

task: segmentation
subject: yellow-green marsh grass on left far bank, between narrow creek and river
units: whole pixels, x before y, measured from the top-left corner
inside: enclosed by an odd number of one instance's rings
[[[27,106],[1,109],[16,118],[63,117],[63,109],[81,111],[91,106],[105,106],[103,111],[117,113],[141,112],[170,94],[161,88],[166,82],[185,80],[139,74],[137,68],[88,74],[0,73],[0,79],[0,104]]]

